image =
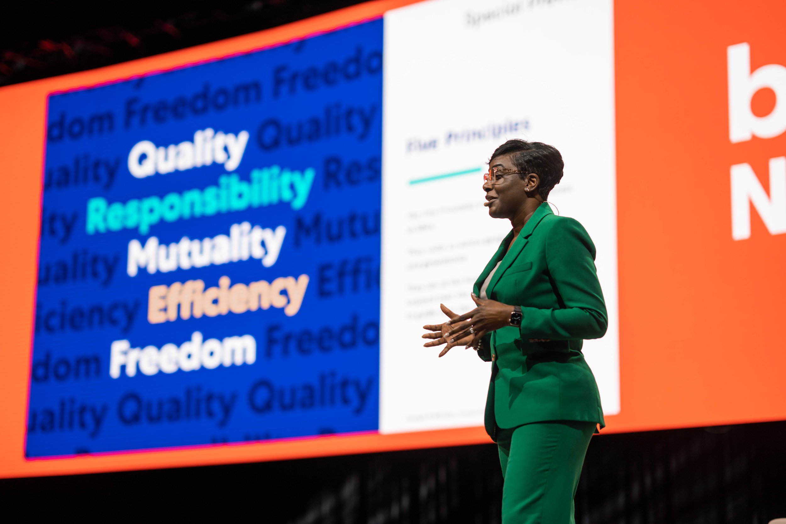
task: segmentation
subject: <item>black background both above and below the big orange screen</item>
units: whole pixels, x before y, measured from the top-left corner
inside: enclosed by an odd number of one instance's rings
[[[353,0],[26,0],[0,6],[0,86],[326,13]],[[593,438],[576,522],[766,524],[786,517],[786,422]],[[6,522],[499,522],[494,445],[0,480]]]

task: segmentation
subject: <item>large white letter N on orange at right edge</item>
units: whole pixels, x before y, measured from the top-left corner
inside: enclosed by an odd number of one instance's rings
[[[733,165],[731,172],[732,238],[750,238],[751,203],[769,234],[786,233],[786,156],[769,159],[769,196],[750,164]]]

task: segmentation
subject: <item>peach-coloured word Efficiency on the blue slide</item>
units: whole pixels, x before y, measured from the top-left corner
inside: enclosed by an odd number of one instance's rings
[[[207,289],[202,280],[153,286],[148,294],[148,321],[150,324],[176,321],[178,308],[184,321],[192,316],[217,317],[230,311],[240,314],[259,308],[269,310],[270,306],[283,308],[284,314],[292,317],[303,305],[308,280],[308,275],[303,274],[297,278],[278,277],[272,282],[259,280],[248,285],[235,284],[230,288],[230,277],[224,276],[219,278],[218,287]]]

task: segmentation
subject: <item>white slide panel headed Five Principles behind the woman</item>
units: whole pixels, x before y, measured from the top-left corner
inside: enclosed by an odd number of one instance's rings
[[[597,247],[608,306],[584,353],[619,412],[611,0],[431,0],[384,17],[380,431],[483,425],[490,368],[472,350],[422,347],[423,324],[473,306],[472,283],[510,223],[483,207],[503,141],[560,149],[549,201]]]

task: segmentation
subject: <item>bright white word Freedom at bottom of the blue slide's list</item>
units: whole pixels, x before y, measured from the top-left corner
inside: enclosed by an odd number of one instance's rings
[[[137,369],[143,375],[158,372],[195,371],[199,368],[215,369],[219,365],[253,364],[256,361],[256,340],[252,335],[229,336],[223,340],[202,341],[202,333],[193,332],[191,339],[179,347],[164,344],[161,349],[146,346],[144,349],[131,347],[127,340],[112,343],[109,357],[109,376],[120,377],[123,368],[126,376],[136,376]]]

